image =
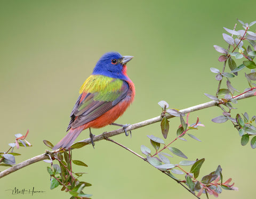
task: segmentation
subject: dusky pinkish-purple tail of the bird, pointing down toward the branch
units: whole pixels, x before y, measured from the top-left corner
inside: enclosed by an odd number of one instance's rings
[[[68,134],[63,137],[60,142],[55,145],[52,150],[57,150],[58,148],[69,148],[73,142],[75,141],[75,139],[77,138],[77,136],[81,133],[81,131],[83,130],[83,128],[75,128],[75,129],[70,129]]]

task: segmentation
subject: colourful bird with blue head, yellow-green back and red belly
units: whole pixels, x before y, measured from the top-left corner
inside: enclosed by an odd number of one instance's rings
[[[127,76],[126,64],[133,56],[122,56],[118,52],[103,54],[96,63],[92,74],[84,81],[79,96],[70,113],[67,135],[52,150],[68,149],[77,136],[85,129],[102,128],[107,125],[122,126],[113,123],[131,105],[135,96],[135,87]]]

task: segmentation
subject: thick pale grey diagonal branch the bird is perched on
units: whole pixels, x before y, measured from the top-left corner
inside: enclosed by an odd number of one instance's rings
[[[239,94],[237,96],[234,96],[233,98],[236,98],[236,100],[245,99],[245,98],[248,98],[248,97],[253,97],[254,93],[255,92],[244,93],[242,95]],[[198,110],[201,110],[201,109],[206,109],[208,107],[216,106],[216,105],[219,105],[221,103],[222,103],[221,101],[220,102],[210,101],[210,102],[206,102],[206,103],[199,104],[199,105],[196,105],[196,106],[188,107],[187,109],[182,109],[182,110],[180,110],[180,112],[186,114],[186,113],[189,113],[189,112],[194,112],[194,111],[198,111]],[[170,119],[170,118],[174,118],[174,116],[173,115],[166,115],[166,118]],[[145,120],[145,121],[141,121],[139,123],[134,123],[133,125],[130,125],[129,127],[127,127],[126,130],[129,131],[129,130],[138,129],[138,128],[145,127],[145,126],[151,125],[153,123],[159,122],[161,120],[162,120],[162,117],[157,116],[155,118],[151,118],[151,119],[148,119],[148,120]],[[116,129],[116,130],[109,131],[109,132],[104,132],[103,134],[94,136],[93,141],[97,142],[99,140],[102,140],[102,139],[105,139],[105,138],[108,138],[108,137],[112,137],[112,136],[122,134],[123,132],[124,132],[123,128]],[[79,142],[90,144],[91,143],[91,138],[87,138],[87,139],[81,140]],[[49,155],[50,154],[53,155],[54,152],[55,151],[52,151],[50,153],[44,153],[44,154],[41,154],[41,155],[37,155],[35,157],[32,157],[31,159],[28,159],[28,160],[25,160],[25,161],[23,161],[19,164],[16,164],[13,167],[8,168],[8,169],[0,172],[0,178],[3,178],[4,176],[7,176],[12,172],[17,171],[19,169],[22,169],[23,167],[26,167],[30,164],[35,163],[35,162],[39,162],[41,160],[49,159]]]

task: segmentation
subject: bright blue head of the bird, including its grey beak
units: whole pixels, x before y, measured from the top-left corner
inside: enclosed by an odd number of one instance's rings
[[[122,56],[118,52],[108,52],[103,54],[95,65],[92,74],[101,74],[111,78],[126,80],[126,63],[133,56]]]

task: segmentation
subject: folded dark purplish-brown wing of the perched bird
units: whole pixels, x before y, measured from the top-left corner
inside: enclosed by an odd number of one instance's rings
[[[129,85],[127,82],[123,82],[120,90],[116,91],[119,95],[114,101],[94,101],[94,97],[97,97],[98,93],[87,93],[84,99],[81,101],[82,94],[78,97],[79,103],[75,104],[72,112],[71,119],[69,122],[68,129],[77,128],[84,125],[109,111],[112,107],[118,104],[123,98],[127,96],[129,92]],[[109,92],[111,95],[116,92]],[[78,101],[77,99],[77,101]],[[80,102],[81,101],[81,102]]]

